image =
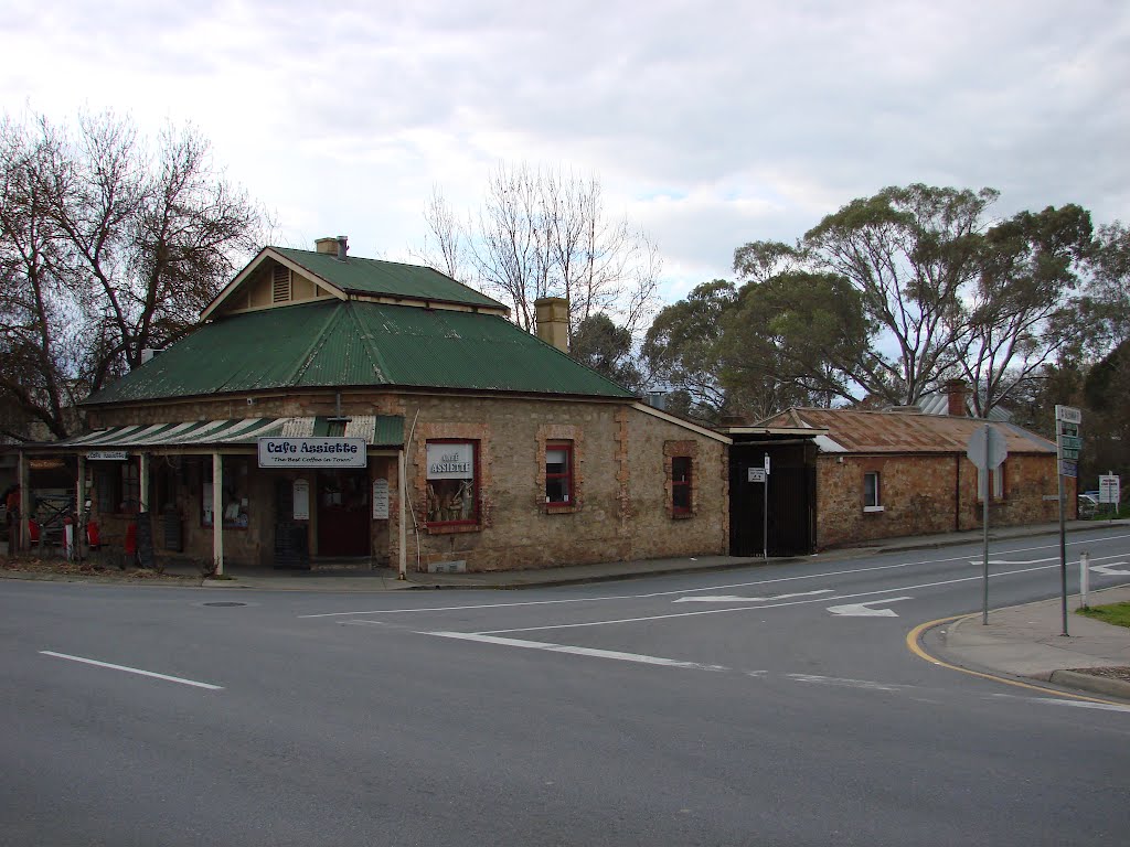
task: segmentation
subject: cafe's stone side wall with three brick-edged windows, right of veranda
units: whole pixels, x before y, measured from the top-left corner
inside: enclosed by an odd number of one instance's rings
[[[419,530],[409,567],[464,562],[504,570],[635,558],[724,553],[724,446],[623,403],[518,399],[406,399],[416,427],[408,453],[410,499]],[[479,444],[479,519],[429,526],[428,439]],[[574,496],[547,504],[546,443],[573,443]],[[672,453],[673,451],[673,453]],[[670,456],[693,456],[693,514],[670,510]]]

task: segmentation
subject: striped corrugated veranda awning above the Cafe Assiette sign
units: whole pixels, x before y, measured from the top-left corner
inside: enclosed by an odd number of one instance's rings
[[[132,449],[169,452],[177,447],[255,446],[259,438],[336,436],[364,438],[370,447],[400,448],[405,419],[392,414],[355,414],[341,418],[244,418],[149,424],[99,429],[60,442],[34,445],[40,449]],[[33,445],[28,445],[33,446]]]

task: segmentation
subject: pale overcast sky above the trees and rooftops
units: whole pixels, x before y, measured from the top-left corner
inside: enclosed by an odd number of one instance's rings
[[[663,296],[886,185],[1130,222],[1130,2],[8,0],[0,104],[195,124],[276,241],[410,260],[434,185],[596,175]]]

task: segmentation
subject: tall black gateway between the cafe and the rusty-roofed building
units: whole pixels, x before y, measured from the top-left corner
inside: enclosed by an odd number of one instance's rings
[[[800,556],[815,550],[815,451],[810,444],[736,443],[730,447],[732,556],[760,556],[766,548],[770,556]],[[750,481],[750,469],[754,478],[759,477],[766,454],[770,457],[767,482]],[[766,495],[768,521],[765,519]]]

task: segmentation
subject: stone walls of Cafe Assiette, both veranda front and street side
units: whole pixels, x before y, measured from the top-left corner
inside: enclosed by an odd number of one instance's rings
[[[405,417],[408,521],[407,567],[462,562],[468,570],[502,570],[593,564],[634,558],[725,553],[728,477],[719,440],[616,401],[503,398],[498,395],[341,392],[345,414]],[[93,427],[181,420],[312,417],[336,412],[332,393],[257,395],[92,412]],[[429,525],[426,445],[457,439],[478,445],[478,510],[464,524]],[[546,445],[573,447],[573,497],[546,501]],[[201,488],[210,463],[207,446],[181,455],[174,483],[183,515],[185,550],[211,557],[211,527],[202,524]],[[176,454],[174,448],[160,452]],[[269,566],[273,556],[276,483],[311,482],[312,553],[318,555],[313,501],[316,471],[260,470],[253,447],[225,447],[225,461],[249,463],[249,522],[224,531],[225,559]],[[156,451],[155,451],[156,453]],[[671,460],[692,462],[689,514],[672,514]],[[155,460],[156,461],[156,460]],[[210,464],[208,465],[210,466]],[[399,561],[399,481],[394,457],[370,456],[370,483],[389,481],[390,516],[372,522],[372,559]],[[164,504],[153,504],[155,512]],[[108,517],[111,523],[124,523]],[[158,539],[158,534],[155,533]]]

